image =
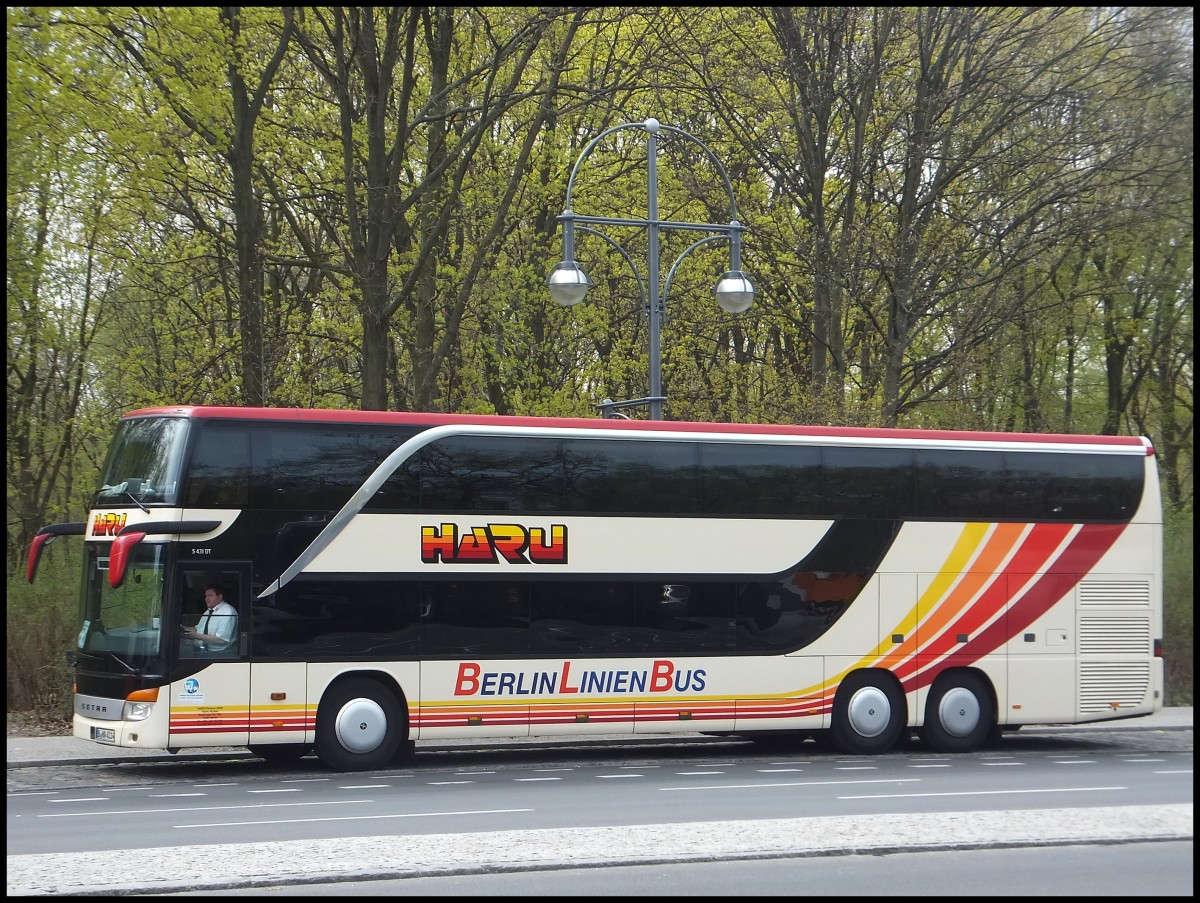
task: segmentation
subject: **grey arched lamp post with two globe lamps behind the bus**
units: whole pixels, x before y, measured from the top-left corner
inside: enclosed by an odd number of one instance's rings
[[[644,128],[649,136],[649,148],[647,153],[648,203],[646,219],[634,220],[617,216],[577,216],[571,210],[571,192],[575,190],[575,177],[578,174],[580,167],[601,140],[624,128]],[[659,132],[678,134],[679,137],[692,142],[704,151],[708,160],[712,161],[713,167],[718,173],[720,173],[721,180],[725,183],[725,189],[730,196],[728,225],[672,222],[659,219]],[[592,280],[588,279],[583,268],[580,267],[575,259],[575,233],[576,231],[587,232],[602,238],[617,249],[622,257],[625,258],[625,262],[629,263],[630,268],[634,270],[634,275],[637,277],[638,287],[642,289],[642,303],[647,306],[650,318],[650,393],[644,399],[632,399],[631,401],[608,401],[606,399],[605,402],[600,405],[604,415],[623,417],[623,414],[616,413],[618,408],[632,407],[636,405],[649,405],[650,419],[661,420],[662,402],[666,401],[666,397],[662,395],[662,307],[666,304],[667,292],[671,288],[671,279],[674,276],[674,271],[678,269],[679,263],[697,247],[714,241],[728,241],[730,269],[716,282],[716,287],[714,289],[716,294],[716,303],[721,305],[722,310],[730,313],[742,313],[743,311],[749,310],[750,305],[754,304],[754,283],[751,283],[750,277],[742,271],[742,233],[745,231],[745,227],[738,222],[738,208],[737,202],[733,198],[733,186],[730,184],[730,177],[725,173],[725,168],[716,159],[716,155],[713,154],[713,151],[703,142],[688,132],[680,128],[674,128],[673,126],[661,125],[656,119],[647,119],[644,122],[626,122],[601,132],[593,138],[583,149],[583,153],[580,154],[580,159],[575,161],[575,168],[571,169],[571,178],[566,183],[566,205],[562,216],[558,217],[558,221],[563,223],[563,261],[554,265],[554,269],[551,270],[550,276],[546,279],[546,286],[550,289],[551,298],[553,298],[558,304],[570,307],[582,301],[583,295],[587,294],[588,289],[592,287]],[[644,283],[642,282],[641,274],[637,271],[637,267],[634,264],[632,258],[630,258],[625,250],[612,238],[599,229],[592,228],[592,226],[637,226],[647,229],[649,238],[649,267],[648,276]],[[659,234],[664,229],[708,232],[714,234],[709,234],[697,241],[694,241],[682,255],[679,255],[678,258],[676,258],[674,264],[667,273],[666,283],[661,286],[660,294]],[[647,298],[647,288],[649,289],[649,298]]]

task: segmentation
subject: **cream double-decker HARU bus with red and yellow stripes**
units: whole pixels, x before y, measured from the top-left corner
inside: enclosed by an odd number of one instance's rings
[[[338,771],[584,732],[966,752],[1162,706],[1136,437],[157,408],[120,419],[30,580],[64,534],[74,735],[119,747]]]

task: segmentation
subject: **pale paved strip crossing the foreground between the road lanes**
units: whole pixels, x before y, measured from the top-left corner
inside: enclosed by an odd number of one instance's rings
[[[688,861],[1190,841],[1192,803],[554,827],[8,856],[8,896],[220,893],[241,887]],[[662,850],[671,850],[664,855]],[[191,859],[190,859],[191,856]],[[313,863],[320,863],[314,866]]]

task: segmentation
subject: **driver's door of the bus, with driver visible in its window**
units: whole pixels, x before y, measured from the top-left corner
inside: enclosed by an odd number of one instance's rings
[[[174,598],[179,612],[170,684],[168,748],[245,746],[250,737],[250,564],[182,561]],[[209,604],[215,599],[215,604]]]

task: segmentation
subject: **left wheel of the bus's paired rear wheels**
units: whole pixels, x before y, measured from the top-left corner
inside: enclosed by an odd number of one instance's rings
[[[829,738],[850,755],[886,753],[908,724],[904,692],[888,671],[847,675],[833,702]]]

